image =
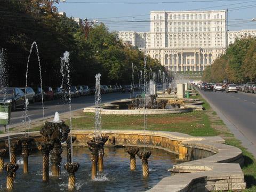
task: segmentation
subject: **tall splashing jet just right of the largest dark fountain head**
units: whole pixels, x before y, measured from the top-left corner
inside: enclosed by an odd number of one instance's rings
[[[69,66],[69,52],[66,51],[63,53],[63,57],[60,58],[61,61],[61,67],[60,67],[60,73],[62,75],[62,81],[61,81],[61,88],[64,90],[65,94],[68,93],[68,107],[69,107],[69,122],[70,122],[70,138],[72,138],[72,110],[71,110],[71,90],[70,90],[70,66]],[[66,85],[64,85],[64,77],[66,76]],[[58,120],[59,113],[56,112],[54,117],[54,120]],[[70,142],[70,154],[71,154],[71,163],[73,162],[73,143]]]

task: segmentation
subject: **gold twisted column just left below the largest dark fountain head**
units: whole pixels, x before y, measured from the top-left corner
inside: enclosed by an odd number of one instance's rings
[[[49,153],[52,149],[51,143],[39,143],[37,145],[38,150],[41,150],[43,155],[43,181],[49,181]]]

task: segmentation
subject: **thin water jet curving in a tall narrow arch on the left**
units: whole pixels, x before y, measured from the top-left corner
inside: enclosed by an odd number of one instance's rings
[[[39,58],[39,52],[38,52],[38,47],[37,47],[37,44],[36,42],[33,42],[31,44],[31,47],[30,47],[30,53],[28,55],[28,62],[27,62],[27,71],[26,71],[26,86],[25,86],[25,121],[24,121],[24,124],[25,124],[25,135],[26,135],[26,130],[28,130],[29,132],[29,129],[30,129],[30,119],[28,117],[28,99],[27,99],[27,86],[28,86],[28,65],[29,65],[29,60],[30,60],[30,55],[33,51],[33,48],[34,46],[36,46],[36,52],[37,52],[37,59],[38,59],[38,65],[39,65],[39,75],[40,75],[40,87],[42,89],[42,73],[41,73],[41,63],[40,63],[40,58]],[[45,118],[44,118],[44,98],[43,98],[43,91],[41,91],[41,97],[42,97],[42,109],[43,109],[43,119],[45,121]],[[28,123],[27,123],[28,122]],[[29,134],[29,133],[28,133]]]

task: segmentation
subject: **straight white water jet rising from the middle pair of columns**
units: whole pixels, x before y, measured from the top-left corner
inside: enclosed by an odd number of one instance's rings
[[[101,94],[100,94],[100,77],[101,74],[95,76],[95,122],[94,122],[94,138],[98,141],[101,139],[101,115],[100,115],[100,103],[101,103]]]

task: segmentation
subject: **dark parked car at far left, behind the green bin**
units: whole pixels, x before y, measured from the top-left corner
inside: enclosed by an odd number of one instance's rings
[[[12,103],[12,111],[18,107],[23,108],[25,106],[25,93],[18,87],[0,88],[0,102],[8,101]]]

